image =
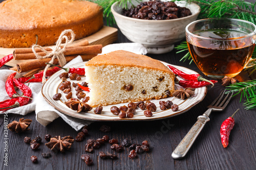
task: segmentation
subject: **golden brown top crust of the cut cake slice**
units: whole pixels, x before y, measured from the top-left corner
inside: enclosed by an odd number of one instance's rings
[[[117,65],[117,66],[137,66],[150,69],[158,69],[164,72],[171,72],[163,63],[151,57],[138,55],[135,53],[118,50],[108,54],[94,57],[86,65]]]

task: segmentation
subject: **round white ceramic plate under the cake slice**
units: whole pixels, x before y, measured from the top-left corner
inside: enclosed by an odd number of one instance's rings
[[[75,68],[83,68],[84,67],[84,63],[86,62],[82,62],[82,63],[77,63],[74,64],[70,67],[75,67]],[[162,62],[164,65],[171,65],[165,62]],[[196,71],[190,70],[188,68],[185,67],[181,67],[181,66],[176,66],[173,65],[176,68],[182,70],[183,72],[186,72],[187,74],[197,74]],[[146,117],[144,116],[144,110],[141,110],[140,108],[136,109],[136,113],[134,115],[133,118],[119,118],[117,115],[114,115],[110,112],[110,108],[112,106],[127,106],[128,103],[121,103],[121,104],[115,104],[115,105],[108,105],[108,106],[103,106],[103,110],[101,114],[94,114],[93,110],[94,108],[89,111],[89,112],[80,112],[77,113],[76,111],[68,108],[64,102],[67,101],[66,97],[65,97],[65,93],[63,93],[61,90],[58,89],[59,84],[61,83],[61,79],[59,78],[59,75],[65,72],[65,70],[59,70],[58,72],[56,72],[54,75],[52,75],[49,80],[44,84],[44,86],[42,86],[42,95],[44,96],[45,100],[52,105],[56,110],[65,113],[69,116],[72,117],[76,117],[76,118],[80,118],[80,119],[88,119],[88,120],[104,120],[104,121],[113,121],[113,120],[155,120],[155,119],[161,119],[161,118],[166,118],[166,117],[172,117],[172,116],[176,116],[179,115],[181,113],[184,113],[186,111],[188,111],[189,109],[191,109],[193,106],[195,106],[196,104],[198,104],[199,102],[201,102],[206,93],[207,93],[207,88],[206,87],[201,87],[201,88],[196,88],[195,90],[195,95],[191,98],[188,98],[187,100],[181,100],[181,99],[177,99],[174,97],[170,97],[170,98],[165,98],[165,99],[161,99],[163,101],[172,101],[174,104],[177,104],[179,106],[179,110],[178,111],[172,111],[171,109],[167,109],[167,110],[160,110],[159,108],[159,101],[160,100],[151,100],[151,102],[155,103],[155,105],[157,106],[157,110],[156,112],[153,112],[153,116],[152,117]],[[76,83],[81,83],[85,80],[84,76],[81,76],[81,80],[80,81],[76,81],[76,80],[70,80],[68,78],[68,81],[72,82],[76,82]],[[180,89],[181,87],[179,85],[176,85],[175,87],[176,89]],[[75,88],[72,87],[72,97],[76,98],[75,95]],[[61,93],[62,97],[59,101],[55,101],[53,100],[53,95],[56,93]],[[87,95],[90,96],[90,92],[86,92]]]

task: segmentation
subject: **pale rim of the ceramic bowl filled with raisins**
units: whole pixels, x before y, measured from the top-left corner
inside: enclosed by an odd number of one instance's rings
[[[128,16],[124,16],[122,14],[119,14],[118,12],[116,12],[114,10],[114,6],[116,6],[119,2],[115,2],[114,4],[112,4],[111,6],[111,12],[113,15],[117,15],[121,18],[124,18],[124,19],[130,19],[130,20],[134,20],[134,21],[141,21],[141,22],[170,22],[170,21],[178,21],[178,20],[182,20],[182,19],[187,19],[187,18],[190,18],[190,17],[193,17],[195,15],[198,15],[201,11],[201,8],[199,5],[197,5],[196,3],[189,3],[189,4],[193,4],[193,5],[196,5],[197,6],[197,9],[198,11],[195,13],[195,14],[192,14],[192,15],[189,15],[189,16],[185,16],[185,17],[182,17],[182,18],[176,18],[176,19],[165,19],[165,20],[148,20],[148,19],[138,19],[138,18],[131,18],[131,17],[128,17]],[[187,3],[186,3],[187,4]]]

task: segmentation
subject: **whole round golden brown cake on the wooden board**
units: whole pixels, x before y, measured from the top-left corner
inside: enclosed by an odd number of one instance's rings
[[[79,0],[8,0],[0,4],[0,47],[54,45],[63,30],[72,29],[75,39],[103,27],[103,10]]]

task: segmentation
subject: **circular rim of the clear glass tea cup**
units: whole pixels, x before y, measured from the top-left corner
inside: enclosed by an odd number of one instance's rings
[[[234,38],[207,38],[207,37],[202,37],[202,36],[199,36],[199,35],[196,35],[194,33],[191,33],[190,31],[188,31],[188,27],[190,25],[192,25],[193,23],[196,23],[196,22],[201,22],[203,20],[214,20],[214,19],[218,19],[218,20],[225,20],[225,19],[228,19],[228,20],[237,20],[237,21],[243,21],[243,22],[247,22],[249,23],[250,25],[252,25],[254,27],[254,30],[251,32],[251,33],[247,33],[246,35],[244,36],[240,36],[240,37],[234,37]],[[195,20],[193,22],[190,22],[186,28],[186,34],[189,34],[190,36],[193,36],[193,37],[197,37],[197,38],[201,38],[201,39],[214,39],[214,40],[237,40],[237,39],[243,39],[243,38],[246,38],[246,37],[251,37],[253,35],[256,35],[256,25],[254,25],[254,23],[250,22],[250,21],[247,21],[247,20],[243,20],[243,19],[236,19],[236,18],[205,18],[205,19],[199,19],[199,20]]]

